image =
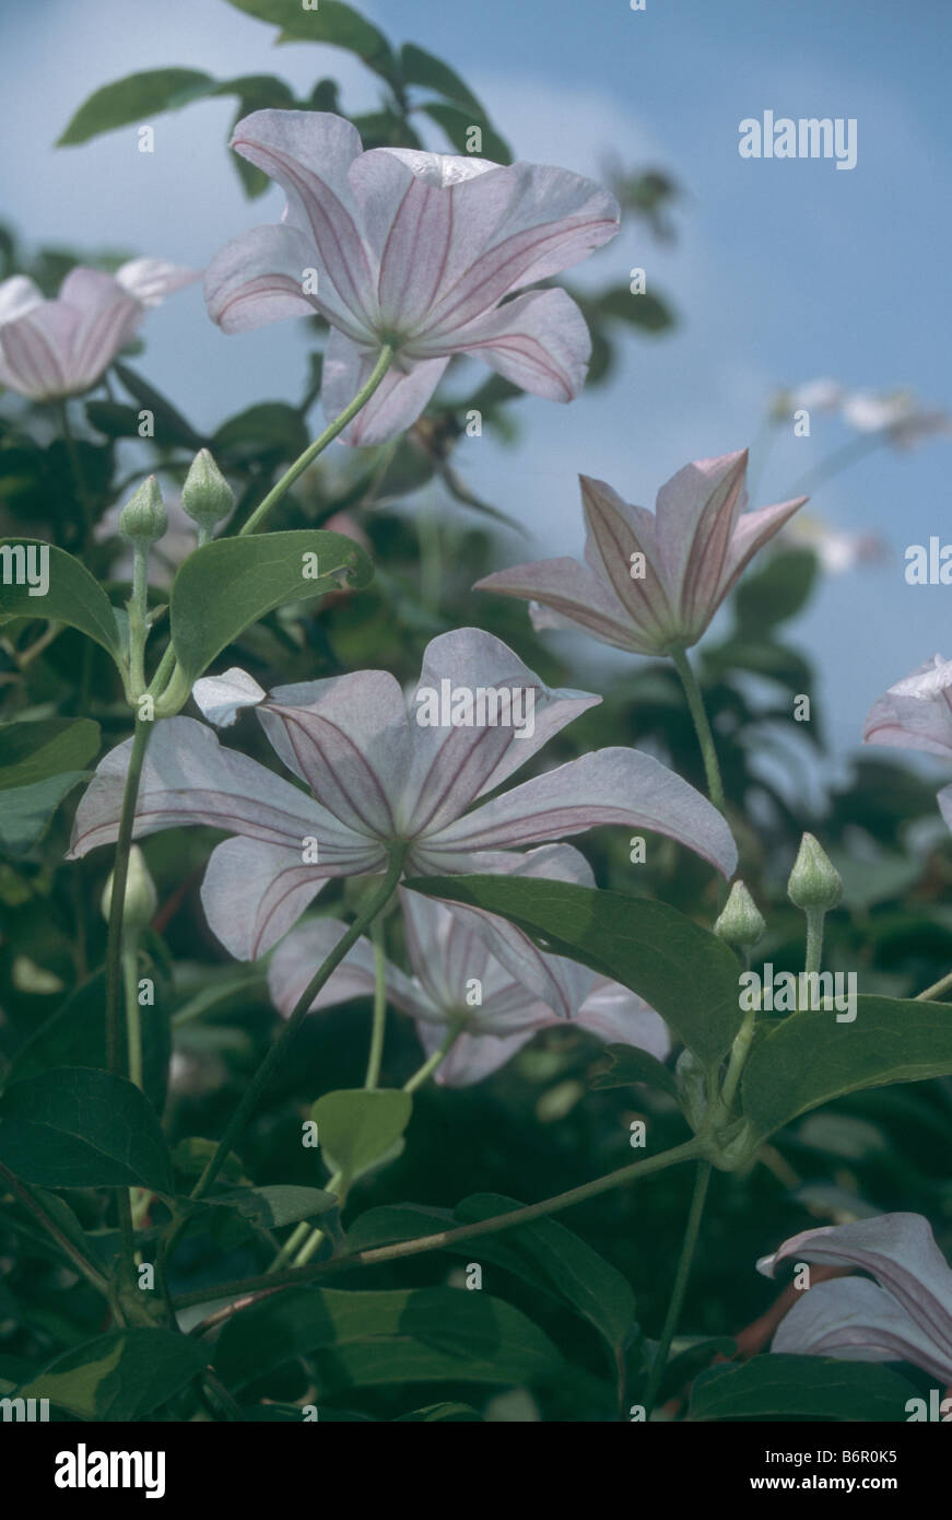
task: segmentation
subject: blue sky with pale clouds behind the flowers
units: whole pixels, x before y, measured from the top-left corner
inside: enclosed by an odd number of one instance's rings
[[[361,9],[392,40],[454,64],[519,157],[591,175],[606,157],[659,166],[685,190],[674,249],[629,226],[580,275],[607,283],[645,266],[650,287],[677,307],[677,334],[632,339],[610,391],[566,409],[521,403],[518,451],[483,438],[459,456],[477,491],[524,517],[534,553],[580,550],[580,471],[653,505],[688,459],[752,442],[779,385],[832,375],[952,406],[947,0],[647,0],[644,12],[627,0],[374,0]],[[137,152],[134,129],[52,147],[96,87],[161,64],[222,78],[275,71],[299,87],[334,73],[349,109],[372,108],[374,78],[348,55],[275,49],[273,35],[225,0],[3,0],[3,216],[30,242],[194,264],[241,228],[276,219],[279,193],[251,205],[225,161],[231,102],[158,117],[153,155]],[[741,160],[738,123],[764,109],[855,117],[856,167]],[[143,368],[200,424],[301,388],[295,324],[225,337],[197,290],[152,313],[146,336]],[[753,505],[782,499],[847,438],[838,420],[817,415],[809,439],[780,439]],[[794,625],[794,641],[820,660],[840,752],[858,743],[885,686],[937,649],[952,654],[952,587],[908,587],[902,573],[906,544],[931,534],[952,541],[950,462],[949,439],[905,454],[884,448],[815,497],[831,526],[890,546],[882,565],[827,579]]]

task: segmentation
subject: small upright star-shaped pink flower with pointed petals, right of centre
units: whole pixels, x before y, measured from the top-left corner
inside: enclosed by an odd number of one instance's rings
[[[586,564],[539,559],[487,575],[477,590],[530,599],[536,628],[582,628],[641,655],[688,649],[758,549],[806,502],[744,512],[746,473],[746,448],[698,459],[662,485],[653,514],[580,476]]]

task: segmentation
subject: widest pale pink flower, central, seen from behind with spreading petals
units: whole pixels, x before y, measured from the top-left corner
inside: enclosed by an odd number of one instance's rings
[[[311,795],[222,748],[203,724],[172,717],[149,746],[135,825],[137,836],[178,824],[237,836],[213,851],[202,901],[240,959],[276,944],[328,879],[381,871],[396,842],[408,845],[407,876],[442,876],[484,869],[487,851],[619,824],[670,834],[724,876],[735,866],[718,810],[638,749],[598,749],[483,801],[601,698],[548,690],[480,629],[428,644],[408,702],[386,670],[263,695],[243,672],[196,684],[219,722],[257,704],[270,743]],[[100,762],[76,812],[73,857],[117,838],[131,743]]]

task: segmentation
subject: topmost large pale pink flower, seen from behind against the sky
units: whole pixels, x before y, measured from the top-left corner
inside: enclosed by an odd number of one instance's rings
[[[357,395],[383,344],[396,345],[348,442],[410,427],[452,354],[478,354],[534,395],[578,394],[591,339],[575,302],[563,290],[500,302],[615,236],[618,202],[594,181],[407,147],[364,154],[349,122],[317,111],[255,111],[231,146],[276,179],[287,207],[279,225],[243,233],[211,261],[208,312],[226,333],[325,316],[328,420]]]

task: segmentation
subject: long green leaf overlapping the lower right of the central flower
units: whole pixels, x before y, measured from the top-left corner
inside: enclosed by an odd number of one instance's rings
[[[541,950],[582,961],[644,997],[705,1064],[730,1049],[739,1023],[739,962],[667,903],[566,882],[509,876],[419,877],[404,883],[500,914]]]

